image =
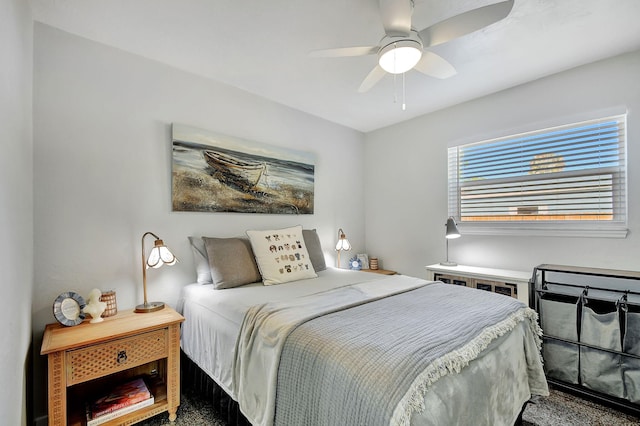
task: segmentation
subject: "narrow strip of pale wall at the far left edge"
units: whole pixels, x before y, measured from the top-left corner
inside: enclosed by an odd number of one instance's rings
[[[0,2],[0,413],[27,424],[33,290],[33,24],[28,3]]]

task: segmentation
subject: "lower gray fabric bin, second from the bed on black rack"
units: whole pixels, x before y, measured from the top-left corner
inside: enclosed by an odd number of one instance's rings
[[[580,347],[580,379],[584,387],[617,398],[625,397],[621,355]]]

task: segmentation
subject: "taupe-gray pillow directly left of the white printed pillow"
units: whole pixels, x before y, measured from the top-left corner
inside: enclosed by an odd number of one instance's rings
[[[248,239],[202,237],[202,240],[215,289],[239,287],[262,280]]]

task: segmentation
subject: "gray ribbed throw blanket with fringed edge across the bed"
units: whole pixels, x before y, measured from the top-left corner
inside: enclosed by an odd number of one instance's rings
[[[284,345],[277,425],[408,425],[428,386],[535,313],[516,299],[433,284],[316,318]]]

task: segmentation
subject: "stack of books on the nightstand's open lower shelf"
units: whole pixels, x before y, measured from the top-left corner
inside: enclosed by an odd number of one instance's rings
[[[144,380],[139,377],[110,389],[108,393],[91,401],[87,406],[87,421],[106,421],[153,404],[153,396]],[[88,423],[89,426],[100,423]]]

